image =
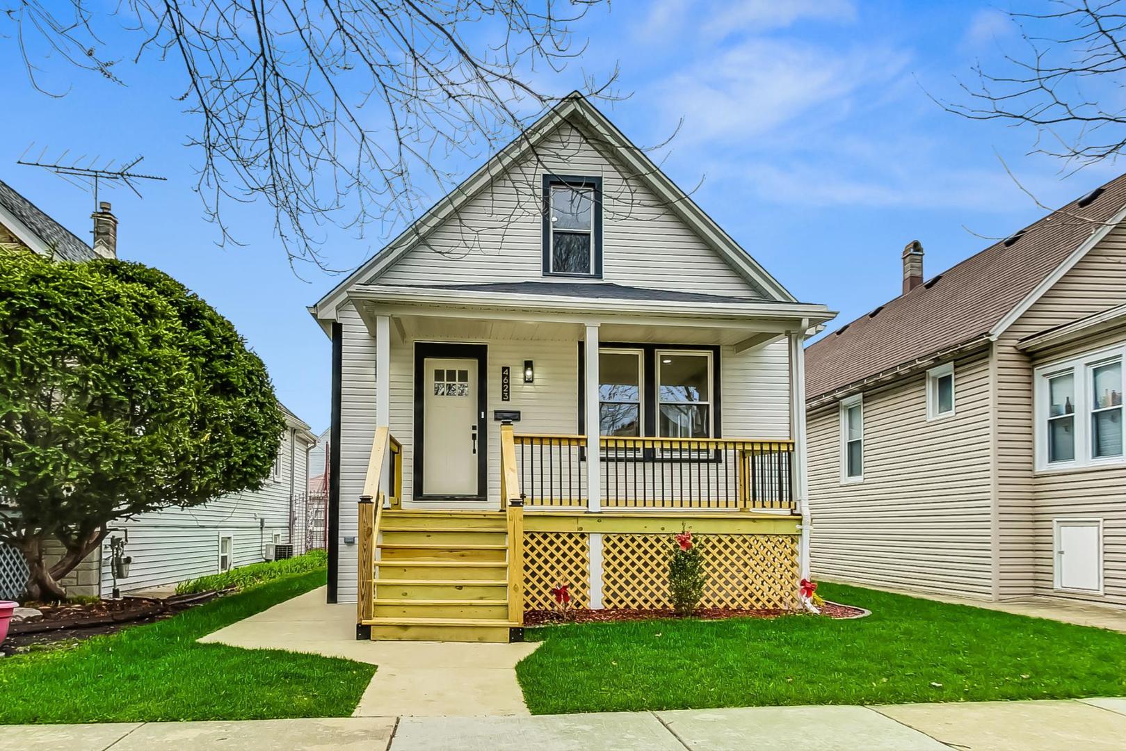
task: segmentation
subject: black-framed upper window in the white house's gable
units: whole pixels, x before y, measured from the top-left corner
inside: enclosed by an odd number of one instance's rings
[[[601,278],[601,178],[544,176],[544,275]]]

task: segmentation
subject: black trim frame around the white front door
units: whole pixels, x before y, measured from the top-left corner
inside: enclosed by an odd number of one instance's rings
[[[484,417],[489,413],[489,345],[461,345],[446,341],[414,342],[414,462],[413,488],[414,498],[440,499],[448,495],[427,495],[422,480],[422,463],[425,461],[423,410],[426,409],[426,358],[464,358],[477,361],[477,494],[458,495],[464,500],[484,501],[489,498],[489,423]]]

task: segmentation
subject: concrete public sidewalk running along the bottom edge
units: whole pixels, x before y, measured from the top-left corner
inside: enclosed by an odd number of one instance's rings
[[[536,717],[345,717],[17,725],[0,751],[364,749],[365,751],[1117,751],[1126,699],[748,707]]]

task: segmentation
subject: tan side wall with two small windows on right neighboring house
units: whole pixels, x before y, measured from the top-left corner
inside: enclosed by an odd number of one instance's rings
[[[991,596],[989,357],[955,361],[955,415],[927,420],[926,374],[864,395],[864,482],[840,481],[840,405],[808,415],[815,575]]]

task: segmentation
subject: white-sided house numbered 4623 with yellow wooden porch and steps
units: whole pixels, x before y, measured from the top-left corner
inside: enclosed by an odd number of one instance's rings
[[[525,565],[529,604],[566,576],[584,606],[659,605],[663,574],[625,567],[660,556],[626,547],[685,524],[716,534],[709,565],[747,582],[731,601],[796,606],[801,342],[833,314],[795,299],[581,96],[311,312],[333,340],[329,598],[374,598],[361,633],[507,638]],[[377,497],[385,533],[360,522]],[[590,533],[602,524],[614,534]],[[411,547],[412,525],[448,544]],[[373,571],[384,555],[403,565]],[[507,599],[434,600],[422,589],[489,585],[430,556],[504,573]],[[429,619],[404,597],[492,610]]]

